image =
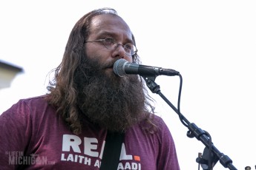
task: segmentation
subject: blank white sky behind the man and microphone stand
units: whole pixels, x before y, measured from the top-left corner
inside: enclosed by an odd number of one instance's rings
[[[254,169],[256,1],[0,1],[0,59],[24,69],[0,89],[0,113],[47,92],[73,25],[100,7],[113,7],[128,23],[142,64],[180,72],[184,117],[209,132],[234,167]],[[160,75],[155,82],[177,107],[180,78]],[[180,168],[198,169],[204,144],[187,137],[177,113],[149,93],[174,137]],[[226,168],[218,162],[214,169]]]

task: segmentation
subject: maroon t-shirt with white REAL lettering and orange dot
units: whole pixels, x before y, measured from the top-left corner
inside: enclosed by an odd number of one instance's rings
[[[151,134],[142,125],[125,133],[118,170],[179,170],[174,140],[162,118]],[[20,100],[0,115],[0,169],[99,170],[106,130],[84,120],[73,135],[44,96]]]

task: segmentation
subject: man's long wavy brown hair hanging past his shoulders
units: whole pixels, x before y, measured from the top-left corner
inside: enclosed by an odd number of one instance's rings
[[[93,10],[87,13],[85,16],[79,19],[71,30],[68,38],[68,43],[65,47],[65,53],[62,58],[61,64],[54,69],[54,79],[49,82],[47,89],[49,95],[47,95],[47,101],[53,106],[56,106],[57,113],[64,118],[69,124],[71,131],[78,135],[82,131],[82,123],[79,118],[79,107],[77,106],[77,86],[74,83],[74,75],[76,70],[79,69],[82,61],[85,60],[85,41],[87,41],[88,35],[90,35],[91,20],[94,16],[110,13],[117,15],[116,10],[111,8],[101,8]],[[132,35],[134,44],[135,38]],[[140,57],[135,54],[132,56],[133,62],[140,64]],[[144,88],[145,90],[145,88]],[[155,129],[155,124],[151,120],[154,114],[154,106],[150,101],[154,101],[149,97],[147,90],[145,90],[145,98],[148,100],[145,102],[145,110],[148,112],[148,121]]]

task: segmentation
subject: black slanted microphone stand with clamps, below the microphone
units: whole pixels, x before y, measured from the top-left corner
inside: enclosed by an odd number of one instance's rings
[[[182,82],[182,77],[180,76],[180,80]],[[206,147],[203,151],[202,157],[197,157],[197,163],[200,163],[203,170],[212,170],[214,165],[220,160],[220,163],[225,167],[229,168],[230,170],[237,170],[232,165],[232,160],[225,154],[221,153],[214,145],[211,143],[211,137],[208,132],[203,131],[202,129],[198,128],[194,123],[190,123],[181,113],[180,108],[175,108],[175,106],[165,98],[165,95],[160,91],[160,86],[157,85],[154,81],[157,75],[149,75],[149,76],[142,76],[144,78],[146,85],[151,92],[157,93],[160,95],[163,100],[168,103],[169,106],[179,115],[180,120],[184,124],[184,126],[188,127],[187,136],[190,138],[196,137],[197,140],[200,140]],[[181,86],[180,86],[181,92]],[[179,95],[180,96],[180,95]]]

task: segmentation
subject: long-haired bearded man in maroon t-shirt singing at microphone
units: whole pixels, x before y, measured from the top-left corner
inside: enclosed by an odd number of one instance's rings
[[[106,136],[119,133],[116,169],[179,170],[174,140],[154,115],[142,78],[113,72],[120,58],[140,62],[134,35],[116,11],[80,18],[49,94],[1,114],[0,169],[99,169]]]

